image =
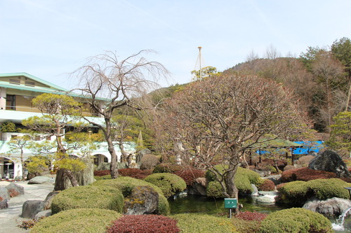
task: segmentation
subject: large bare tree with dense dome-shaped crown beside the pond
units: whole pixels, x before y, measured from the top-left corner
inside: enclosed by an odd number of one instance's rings
[[[168,101],[160,134],[182,141],[188,158],[216,174],[224,195],[237,197],[234,176],[244,153],[258,140],[287,138],[305,129],[305,118],[294,103],[291,92],[265,78],[207,78]],[[214,162],[225,164],[224,172]]]

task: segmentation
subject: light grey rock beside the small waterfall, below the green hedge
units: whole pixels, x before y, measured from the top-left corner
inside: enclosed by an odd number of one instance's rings
[[[322,213],[324,216],[340,216],[340,214],[349,209],[350,206],[350,200],[333,197],[324,201],[316,198],[310,199],[303,205],[303,208]],[[351,215],[350,211],[348,215]]]

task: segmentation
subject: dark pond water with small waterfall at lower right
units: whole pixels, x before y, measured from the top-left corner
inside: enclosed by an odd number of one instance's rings
[[[168,199],[171,207],[171,214],[176,213],[206,213],[216,215],[220,213],[228,213],[224,208],[224,199],[213,199],[205,196],[187,195],[176,197],[176,199]],[[275,205],[267,205],[255,202],[251,197],[240,197],[239,203],[244,208],[241,211],[256,211],[259,213],[271,213],[284,209]],[[336,218],[330,218],[331,223],[336,223]],[[337,233],[351,232],[351,214],[345,218],[344,229],[336,230]]]

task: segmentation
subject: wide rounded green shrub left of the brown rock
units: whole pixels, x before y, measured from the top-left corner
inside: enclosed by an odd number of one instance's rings
[[[117,188],[85,185],[63,190],[56,195],[51,204],[51,211],[58,213],[68,209],[99,208],[121,213],[123,206],[124,197]]]

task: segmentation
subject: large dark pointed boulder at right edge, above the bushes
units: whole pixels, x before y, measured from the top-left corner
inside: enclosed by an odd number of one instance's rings
[[[335,173],[338,177],[351,178],[345,162],[343,162],[341,157],[333,150],[325,150],[322,154],[319,154],[311,160],[310,164],[308,164],[308,168],[330,171]]]

